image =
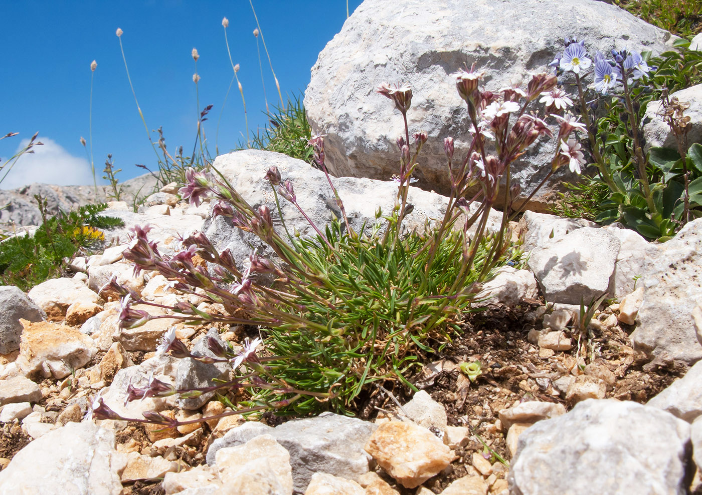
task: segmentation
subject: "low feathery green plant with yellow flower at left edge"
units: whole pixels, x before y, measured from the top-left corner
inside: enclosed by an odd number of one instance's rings
[[[17,235],[0,243],[0,280],[29,290],[48,278],[65,273],[65,260],[78,252],[102,247],[100,229],[124,225],[119,218],[99,215],[105,204],[85,205],[68,213],[46,214],[46,200],[36,197],[44,222],[32,235]]]

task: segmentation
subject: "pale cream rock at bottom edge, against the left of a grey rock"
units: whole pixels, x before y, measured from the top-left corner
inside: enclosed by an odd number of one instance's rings
[[[219,449],[215,459],[220,480],[235,489],[233,493],[293,492],[290,454],[271,435],[259,435],[243,445]]]

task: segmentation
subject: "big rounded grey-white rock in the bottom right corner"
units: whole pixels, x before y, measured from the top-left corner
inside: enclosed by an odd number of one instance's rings
[[[694,475],[690,455],[690,426],[672,414],[585,400],[519,436],[510,493],[682,495]]]

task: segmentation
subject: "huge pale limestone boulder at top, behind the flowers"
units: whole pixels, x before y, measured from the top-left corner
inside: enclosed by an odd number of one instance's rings
[[[657,54],[671,38],[600,1],[364,1],[319,54],[305,91],[312,129],[328,135],[329,170],[338,176],[383,180],[397,173],[395,140],[404,133],[402,115],[375,90],[383,82],[409,83],[410,134],[425,130],[429,136],[419,159],[417,185],[446,192],[444,137],[454,137],[459,156],[470,142],[465,103],[450,74],[475,62],[485,71],[486,89],[525,86],[530,73],[544,72],[563,49],[565,36],[584,39],[590,53],[626,48]],[[574,91],[573,86],[566,89]],[[524,193],[533,191],[548,173],[544,164],[554,150],[553,140],[537,143],[515,163],[512,177]],[[531,209],[560,181],[575,178],[560,170],[535,196]]]

